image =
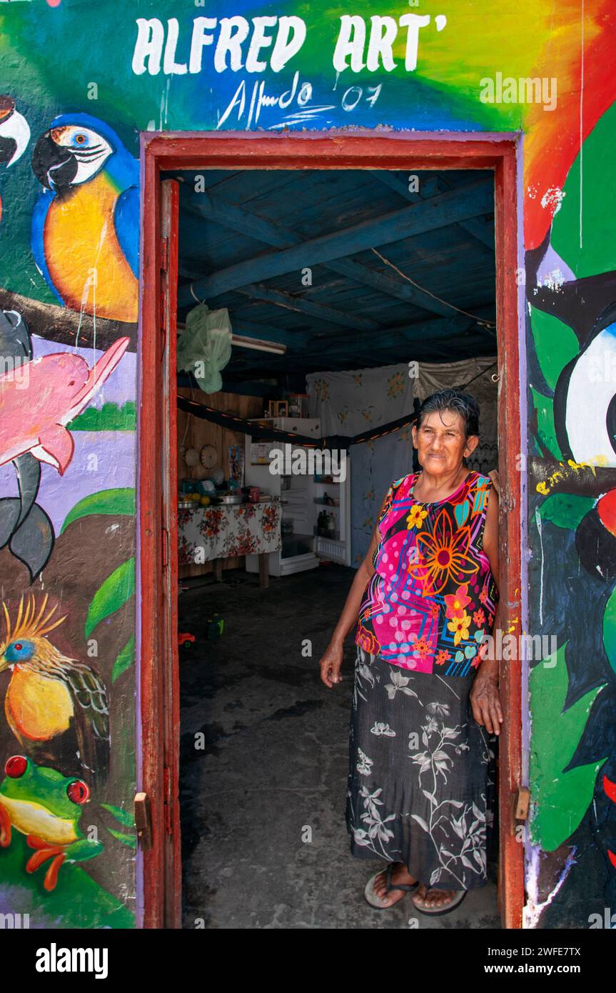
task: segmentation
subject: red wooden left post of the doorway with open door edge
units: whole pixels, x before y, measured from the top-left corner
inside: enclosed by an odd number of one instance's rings
[[[156,184],[156,186],[155,186]],[[160,186],[160,189],[159,189]],[[154,210],[143,243],[139,420],[138,786],[151,838],[142,847],[142,923],[179,927],[182,913],[179,756],[177,510],[177,296],[179,184],[150,178]],[[154,189],[153,189],[154,188]]]

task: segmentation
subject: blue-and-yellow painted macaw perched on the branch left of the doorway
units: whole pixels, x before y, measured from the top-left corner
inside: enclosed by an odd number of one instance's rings
[[[103,121],[62,114],[37,141],[32,168],[45,188],[32,216],[32,250],[60,302],[137,321],[137,159]]]

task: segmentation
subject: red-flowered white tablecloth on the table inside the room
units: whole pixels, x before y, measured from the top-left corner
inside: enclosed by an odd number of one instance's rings
[[[280,518],[277,501],[178,510],[179,563],[279,551]]]

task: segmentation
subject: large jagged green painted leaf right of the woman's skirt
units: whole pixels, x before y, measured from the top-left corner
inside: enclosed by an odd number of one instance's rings
[[[554,666],[540,662],[530,677],[530,784],[534,800],[530,833],[531,840],[547,852],[553,852],[578,826],[592,800],[597,773],[607,758],[562,772],[571,761],[591,704],[602,687],[590,690],[562,713],[568,684],[564,645],[550,661],[554,658]]]

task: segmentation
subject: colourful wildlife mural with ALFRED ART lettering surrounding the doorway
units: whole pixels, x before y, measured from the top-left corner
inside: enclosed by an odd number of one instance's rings
[[[135,7],[0,3],[0,913],[139,921],[139,135],[389,126],[524,133],[530,630],[558,637],[525,924],[587,926],[616,907],[616,8]]]

